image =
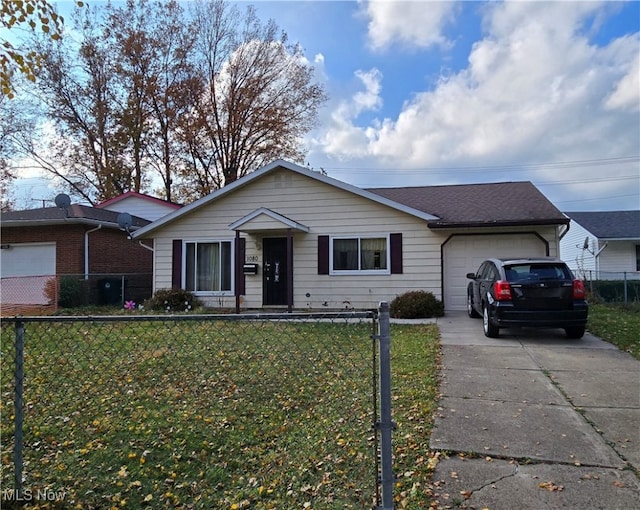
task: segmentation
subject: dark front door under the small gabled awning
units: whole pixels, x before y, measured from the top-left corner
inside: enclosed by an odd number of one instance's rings
[[[262,288],[265,306],[286,305],[288,288],[287,239],[265,238],[262,241]]]

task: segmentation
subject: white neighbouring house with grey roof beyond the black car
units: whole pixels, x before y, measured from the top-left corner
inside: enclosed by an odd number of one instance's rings
[[[596,280],[640,278],[640,210],[566,212],[571,230],[560,255],[577,275]]]

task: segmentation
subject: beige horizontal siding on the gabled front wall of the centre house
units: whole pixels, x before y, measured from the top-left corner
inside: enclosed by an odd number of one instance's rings
[[[296,308],[372,308],[380,301],[390,301],[396,295],[414,289],[429,290],[440,297],[441,238],[428,229],[425,221],[286,170],[267,174],[158,230],[154,290],[171,287],[173,239],[232,239],[235,232],[229,230],[229,224],[259,207],[271,209],[310,229],[308,233],[294,231],[293,234],[293,303]],[[253,221],[251,223],[254,227]],[[277,227],[271,218],[264,226]],[[319,235],[387,235],[396,232],[402,233],[403,274],[317,274]],[[279,231],[241,235],[247,239],[247,257],[257,256],[261,266],[262,237],[284,237],[286,227],[282,225]],[[232,306],[232,300],[216,297],[208,304]],[[262,270],[256,276],[246,276],[243,301],[244,308],[260,306]]]

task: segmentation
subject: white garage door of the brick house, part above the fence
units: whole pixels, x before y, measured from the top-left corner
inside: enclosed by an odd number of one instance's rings
[[[0,273],[2,278],[55,275],[55,243],[3,245],[0,250]]]

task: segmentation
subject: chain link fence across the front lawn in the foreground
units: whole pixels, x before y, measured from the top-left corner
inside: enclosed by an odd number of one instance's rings
[[[3,508],[391,509],[388,321],[3,320]]]

